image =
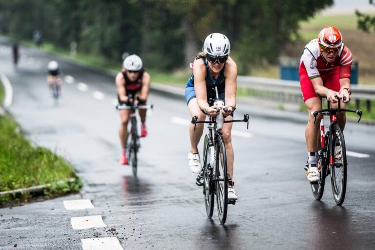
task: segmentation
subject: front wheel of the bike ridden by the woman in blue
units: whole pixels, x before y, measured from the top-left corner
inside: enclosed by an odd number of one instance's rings
[[[224,225],[228,212],[228,170],[225,145],[221,136],[217,138],[215,168],[217,214],[220,223]]]

